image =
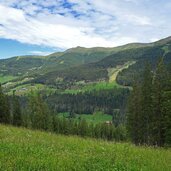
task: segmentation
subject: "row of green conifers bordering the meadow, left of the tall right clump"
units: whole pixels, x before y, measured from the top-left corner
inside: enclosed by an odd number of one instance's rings
[[[120,120],[118,116],[116,119]],[[22,108],[15,92],[9,98],[3,93],[0,86],[0,123],[3,124],[12,124],[57,134],[101,138],[110,141],[126,140],[126,128],[122,123],[117,124],[116,119],[113,118],[113,123],[109,124],[93,124],[82,119],[75,120],[72,114],[69,118],[60,118],[57,114],[50,111],[48,104],[36,92],[30,93],[27,105]]]

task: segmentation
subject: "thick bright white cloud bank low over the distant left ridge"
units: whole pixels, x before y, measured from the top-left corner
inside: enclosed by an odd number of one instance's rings
[[[6,11],[9,15],[3,16]],[[0,6],[0,37],[23,43],[69,48],[72,46],[112,46],[98,35],[86,35],[90,28],[40,22],[26,17],[21,10]]]

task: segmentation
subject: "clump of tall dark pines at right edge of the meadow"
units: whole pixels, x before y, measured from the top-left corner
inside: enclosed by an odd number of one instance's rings
[[[156,70],[148,63],[134,84],[127,126],[135,144],[171,145],[171,70],[161,58]]]

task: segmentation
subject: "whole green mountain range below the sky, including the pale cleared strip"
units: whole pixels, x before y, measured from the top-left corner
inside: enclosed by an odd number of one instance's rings
[[[131,43],[114,48],[76,47],[48,56],[3,59],[0,76],[12,76],[13,87],[36,83],[68,88],[79,82],[109,81],[111,76],[119,84],[131,85],[140,77],[146,61],[154,67],[160,57],[164,57],[166,63],[171,62],[171,37],[153,43]]]

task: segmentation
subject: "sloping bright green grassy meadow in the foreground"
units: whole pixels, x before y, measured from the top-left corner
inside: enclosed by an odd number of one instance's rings
[[[0,170],[170,171],[171,150],[0,125]]]

